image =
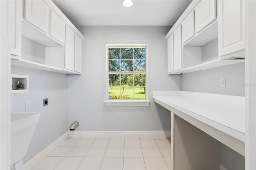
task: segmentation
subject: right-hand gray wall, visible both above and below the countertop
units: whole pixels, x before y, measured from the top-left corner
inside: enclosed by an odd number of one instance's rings
[[[245,95],[245,63],[227,65],[182,75],[182,90],[224,95]],[[226,77],[226,87],[220,87],[220,77]],[[244,156],[222,144],[222,165],[228,170],[243,170]]]

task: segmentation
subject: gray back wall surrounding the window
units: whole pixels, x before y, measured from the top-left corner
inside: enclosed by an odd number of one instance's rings
[[[180,90],[181,75],[167,74],[166,26],[78,26],[82,75],[68,76],[68,121],[77,130],[170,130],[170,112],[152,101],[154,90]],[[106,44],[148,44],[150,107],[104,107]]]

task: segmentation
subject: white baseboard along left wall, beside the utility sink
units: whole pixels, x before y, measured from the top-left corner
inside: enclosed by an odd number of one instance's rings
[[[68,138],[68,132],[64,133],[50,145],[48,145],[44,150],[39,152],[36,156],[30,159],[26,164],[23,165],[23,170],[31,170],[34,168],[39,162],[41,162],[48,154],[50,154],[55,148],[57,148],[64,140]]]

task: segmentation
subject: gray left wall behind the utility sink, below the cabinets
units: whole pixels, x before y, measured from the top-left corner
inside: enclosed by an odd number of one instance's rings
[[[12,74],[29,75],[29,93],[11,94],[11,111],[25,112],[25,101],[31,101],[31,110],[40,112],[40,119],[32,137],[23,164],[41,152],[68,131],[67,89],[65,74],[13,66]],[[49,105],[43,107],[43,99]]]

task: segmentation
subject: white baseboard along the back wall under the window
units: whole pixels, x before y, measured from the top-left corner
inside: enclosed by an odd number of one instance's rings
[[[69,131],[70,137],[170,137],[170,130],[160,131]]]

